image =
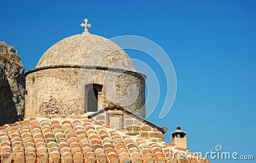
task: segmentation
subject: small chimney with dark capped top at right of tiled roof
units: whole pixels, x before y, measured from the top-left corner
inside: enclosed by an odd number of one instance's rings
[[[186,139],[187,132],[184,132],[177,127],[175,132],[172,132],[172,144],[179,146],[180,148],[187,148],[187,139]]]

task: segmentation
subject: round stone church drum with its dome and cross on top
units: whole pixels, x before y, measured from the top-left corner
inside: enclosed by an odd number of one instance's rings
[[[145,117],[146,75],[136,71],[116,43],[90,34],[87,21],[81,24],[85,27],[82,34],[52,45],[36,67],[26,72],[26,118],[70,118],[101,111],[110,104]],[[116,120],[107,114],[104,117],[106,124]],[[118,117],[123,124],[122,116]]]

